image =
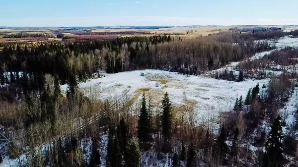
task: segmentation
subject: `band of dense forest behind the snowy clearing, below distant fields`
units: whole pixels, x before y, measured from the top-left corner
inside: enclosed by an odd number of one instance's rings
[[[276,34],[280,36],[279,32]],[[266,41],[254,40],[261,37],[267,38],[266,34],[260,37],[220,34],[194,40],[153,36],[40,45],[7,44],[0,52],[0,66],[6,82],[7,72],[17,75],[17,71],[57,74],[62,83],[66,83],[71,74],[83,81],[98,69],[116,73],[151,68],[198,74],[274,47]],[[270,34],[268,38],[271,37],[275,36]]]

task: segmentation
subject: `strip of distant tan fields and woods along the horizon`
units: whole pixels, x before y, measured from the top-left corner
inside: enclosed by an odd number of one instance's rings
[[[149,27],[127,27],[127,26],[117,26],[117,27],[23,27],[23,28],[13,28],[0,29],[0,33],[16,34],[16,33],[27,33],[27,34],[49,34],[51,37],[57,34],[64,34],[65,36],[70,36],[71,38],[83,38],[87,39],[106,39],[106,36],[110,37],[130,37],[130,36],[153,36],[153,35],[177,35],[185,39],[196,38],[200,36],[208,36],[209,34],[216,34],[220,32],[229,32],[233,28],[266,28],[273,26],[184,26],[184,27],[166,27],[166,28],[156,28],[150,29]],[[297,30],[297,26],[274,26],[282,28],[283,31]],[[113,29],[114,28],[114,29]]]

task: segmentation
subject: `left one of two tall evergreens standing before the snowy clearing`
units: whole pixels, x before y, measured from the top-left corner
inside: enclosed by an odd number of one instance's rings
[[[145,92],[142,98],[142,108],[139,116],[138,137],[141,142],[150,141],[150,118],[146,108]]]

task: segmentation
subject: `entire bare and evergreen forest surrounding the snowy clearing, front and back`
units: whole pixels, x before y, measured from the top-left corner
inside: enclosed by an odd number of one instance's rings
[[[99,101],[78,87],[100,70],[200,75],[272,50],[275,45],[268,40],[284,35],[266,31],[2,44],[0,124],[9,142],[1,154],[28,167],[283,167],[296,162],[298,117],[285,133],[285,115],[279,113],[296,90],[294,70],[255,85],[216,123],[198,124],[193,114],[180,119],[167,93],[156,109],[144,92],[136,116],[130,99]],[[261,71],[272,62],[295,65],[297,52],[286,48],[241,61],[240,81],[265,78]],[[65,83],[63,96],[60,85]]]

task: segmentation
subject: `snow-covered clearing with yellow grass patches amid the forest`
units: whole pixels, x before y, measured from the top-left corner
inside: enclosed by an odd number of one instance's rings
[[[141,76],[142,72],[145,76]],[[233,82],[148,69],[107,74],[106,77],[80,83],[79,87],[84,90],[85,95],[96,95],[101,100],[121,96],[123,92],[128,92],[131,98],[141,96],[138,90],[148,88],[157,101],[156,105],[160,104],[164,93],[168,92],[174,106],[192,106],[198,118],[206,120],[219,115],[220,111],[231,111],[237,97],[242,95],[245,98],[250,88],[257,83],[263,85],[267,82],[267,79]],[[156,87],[156,83],[160,85]],[[61,86],[64,91],[66,88],[67,85]]]

